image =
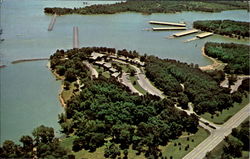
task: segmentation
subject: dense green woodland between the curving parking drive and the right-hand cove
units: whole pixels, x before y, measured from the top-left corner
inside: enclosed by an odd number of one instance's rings
[[[240,92],[230,94],[228,88],[219,86],[225,76],[222,71],[202,72],[197,65],[176,60],[162,60],[154,56],[146,59],[146,76],[167,96],[178,97],[183,105],[194,104],[198,114],[222,111],[241,102]],[[184,85],[184,91],[180,84]]]

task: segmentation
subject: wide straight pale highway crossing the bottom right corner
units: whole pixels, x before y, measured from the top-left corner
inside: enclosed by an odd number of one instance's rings
[[[206,153],[213,150],[226,136],[228,136],[232,129],[238,127],[250,113],[250,103],[231,117],[221,128],[215,129],[211,135],[188,153],[183,159],[202,159]]]

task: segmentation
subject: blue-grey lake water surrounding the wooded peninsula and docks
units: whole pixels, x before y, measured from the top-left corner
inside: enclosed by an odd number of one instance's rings
[[[114,3],[89,2],[94,3]],[[73,26],[79,27],[80,46],[107,46],[137,50],[162,58],[183,62],[210,64],[201,55],[207,41],[237,42],[219,35],[183,43],[186,37],[167,39],[176,31],[152,32],[150,20],[185,21],[189,28],[195,20],[231,19],[249,21],[244,10],[221,13],[182,12],[177,14],[120,13],[114,15],[66,15],[57,17],[53,31],[48,32],[51,16],[43,13],[44,7],[79,7],[82,1],[5,0],[1,10],[1,25],[5,41],[0,43],[1,86],[1,143],[6,139],[17,141],[23,134],[44,124],[59,131],[57,115],[62,112],[58,101],[60,82],[46,68],[46,61],[13,65],[10,62],[23,58],[49,57],[56,49],[72,48]]]

